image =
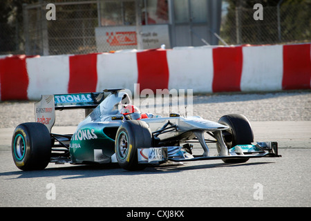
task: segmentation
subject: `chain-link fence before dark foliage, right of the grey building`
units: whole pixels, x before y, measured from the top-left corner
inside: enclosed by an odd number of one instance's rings
[[[220,36],[227,44],[286,44],[311,41],[310,3],[263,8],[231,8],[222,19]]]

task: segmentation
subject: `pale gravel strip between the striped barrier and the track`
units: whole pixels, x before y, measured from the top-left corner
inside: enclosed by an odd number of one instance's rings
[[[187,99],[185,102],[187,103]],[[15,128],[23,122],[34,122],[34,103],[35,101],[0,102],[0,128]],[[194,95],[192,103],[193,115],[212,121],[229,113],[241,113],[250,122],[311,120],[311,90]],[[163,104],[164,113],[160,113],[163,117],[169,113],[165,108]],[[191,105],[187,106],[187,112],[191,113]],[[82,119],[84,110],[56,111],[55,126],[75,126]]]

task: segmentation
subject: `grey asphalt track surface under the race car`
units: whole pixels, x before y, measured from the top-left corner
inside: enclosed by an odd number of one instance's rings
[[[311,122],[251,124],[256,141],[279,142],[282,157],[163,164],[135,172],[117,164],[20,171],[10,151],[14,128],[0,128],[0,206],[311,206]],[[53,130],[73,133],[75,127]],[[215,146],[210,152],[216,154]],[[198,144],[194,153],[202,153]]]

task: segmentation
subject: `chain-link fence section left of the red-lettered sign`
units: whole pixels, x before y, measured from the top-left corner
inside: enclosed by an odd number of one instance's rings
[[[64,55],[97,52],[97,1],[55,3],[55,20],[46,18],[47,3],[24,6],[27,55]]]

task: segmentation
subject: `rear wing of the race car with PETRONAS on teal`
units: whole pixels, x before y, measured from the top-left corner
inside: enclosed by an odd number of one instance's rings
[[[46,125],[51,132],[55,124],[55,110],[82,108],[86,109],[88,115],[102,100],[104,100],[104,93],[42,95],[41,100],[35,103],[35,122]]]

